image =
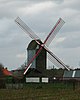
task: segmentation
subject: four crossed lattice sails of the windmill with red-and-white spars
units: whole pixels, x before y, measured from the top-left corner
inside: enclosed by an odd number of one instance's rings
[[[56,65],[57,67],[62,67],[62,68],[66,68],[67,70],[70,70],[57,56],[55,56],[49,49],[48,46],[49,44],[52,42],[52,40],[55,38],[56,34],[58,33],[58,31],[61,29],[61,27],[64,25],[64,21],[62,20],[62,18],[59,18],[59,20],[57,21],[57,23],[55,24],[55,26],[52,28],[52,30],[50,31],[50,33],[48,34],[47,38],[45,39],[44,42],[41,41],[41,39],[19,18],[17,17],[15,19],[15,22],[18,24],[18,26],[20,26],[20,28],[25,31],[32,39],[34,39],[36,41],[36,43],[40,46],[39,50],[36,52],[36,54],[32,57],[32,59],[30,60],[30,62],[28,63],[28,65],[26,66],[26,69],[24,71],[24,75],[26,74],[26,72],[28,71],[28,69],[31,67],[32,62],[34,61],[34,59],[39,55],[39,53],[41,52],[41,50],[44,48],[49,55],[49,60]],[[40,40],[42,43],[40,43],[38,40]]]

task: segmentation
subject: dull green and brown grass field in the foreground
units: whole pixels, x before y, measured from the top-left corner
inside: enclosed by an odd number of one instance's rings
[[[64,84],[26,84],[23,89],[0,89],[0,100],[80,100],[80,88]]]

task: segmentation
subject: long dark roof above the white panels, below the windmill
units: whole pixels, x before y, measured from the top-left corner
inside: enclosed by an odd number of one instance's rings
[[[64,70],[59,69],[45,69],[43,71],[39,71],[38,69],[29,69],[26,73],[26,77],[56,77],[56,78],[62,78],[63,77]]]

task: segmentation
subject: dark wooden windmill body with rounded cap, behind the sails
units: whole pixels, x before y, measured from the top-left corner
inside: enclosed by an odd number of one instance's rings
[[[38,42],[42,43],[40,40],[37,40]],[[40,45],[38,45],[35,40],[32,40],[28,47],[27,47],[27,63],[30,62],[30,60],[32,59],[32,57],[36,54],[36,52],[40,49]],[[46,65],[47,65],[47,52],[46,50],[43,48],[40,52],[40,54],[36,57],[36,59],[34,59],[34,61],[32,62],[32,65],[30,68],[34,68],[37,69],[38,71],[42,72],[43,70],[46,69]]]

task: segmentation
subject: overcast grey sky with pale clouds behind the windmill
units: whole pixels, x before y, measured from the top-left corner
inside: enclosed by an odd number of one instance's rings
[[[31,38],[14,22],[20,17],[42,40],[61,17],[65,24],[49,49],[65,64],[80,67],[80,0],[0,0],[0,63],[16,69]]]

